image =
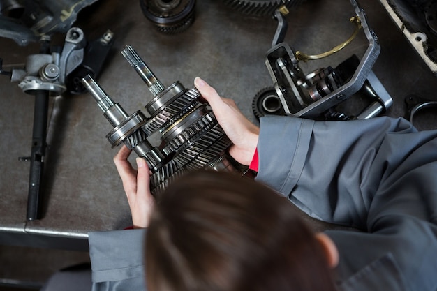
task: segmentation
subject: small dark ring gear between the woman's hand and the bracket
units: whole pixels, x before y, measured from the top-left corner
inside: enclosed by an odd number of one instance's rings
[[[281,100],[273,87],[258,91],[252,100],[252,110],[257,119],[267,114],[285,115]]]

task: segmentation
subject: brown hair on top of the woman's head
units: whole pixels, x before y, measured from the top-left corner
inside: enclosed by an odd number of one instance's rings
[[[192,172],[158,197],[149,291],[334,290],[323,249],[282,197],[235,174]]]

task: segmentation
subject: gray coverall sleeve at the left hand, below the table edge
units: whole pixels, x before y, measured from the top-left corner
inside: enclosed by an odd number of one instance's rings
[[[93,291],[146,290],[144,229],[89,233]]]

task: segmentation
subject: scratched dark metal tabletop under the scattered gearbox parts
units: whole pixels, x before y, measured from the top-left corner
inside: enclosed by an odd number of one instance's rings
[[[383,6],[376,0],[361,4],[381,45],[373,72],[394,98],[387,114],[405,115],[403,98],[408,94],[436,100],[436,77],[394,26]],[[244,114],[257,122],[251,108],[253,96],[272,86],[265,66],[265,54],[276,30],[276,21],[271,17],[242,15],[221,1],[203,0],[196,4],[193,26],[168,36],[151,26],[137,1],[135,5],[100,1],[86,12],[76,25],[87,39],[97,38],[107,29],[114,32],[112,52],[98,83],[129,114],[143,110],[151,94],[119,53],[125,45],[137,50],[163,84],[168,86],[179,80],[189,88],[199,75],[222,96],[234,98]],[[308,0],[287,16],[286,43],[311,54],[329,50],[352,33],[350,16],[353,9],[348,0]],[[361,57],[366,47],[366,38],[360,33],[333,57],[301,66],[306,72],[336,66],[351,54]],[[12,40],[0,39],[5,70],[24,64],[27,55],[37,52],[38,44],[19,47]],[[0,244],[86,250],[89,231],[130,225],[128,204],[112,163],[117,149],[111,149],[105,140],[112,128],[89,94],[65,94],[50,100],[44,217],[26,221],[29,163],[18,158],[30,154],[34,99],[8,77],[0,76],[0,100]],[[435,124],[432,114],[422,121],[424,126]]]

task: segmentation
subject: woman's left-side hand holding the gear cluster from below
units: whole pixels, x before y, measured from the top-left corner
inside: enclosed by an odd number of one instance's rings
[[[144,228],[149,225],[155,202],[150,192],[149,167],[144,158],[136,158],[138,170],[135,170],[128,161],[130,154],[131,150],[123,145],[117,156],[114,156],[114,163],[123,181],[126,197],[128,197],[133,227]]]

